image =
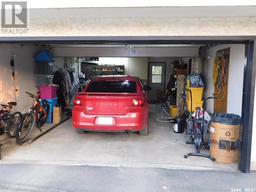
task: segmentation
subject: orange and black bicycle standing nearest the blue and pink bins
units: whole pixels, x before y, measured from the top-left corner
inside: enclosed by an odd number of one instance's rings
[[[46,122],[50,109],[49,104],[51,104],[46,99],[40,99],[38,93],[37,96],[29,92],[26,93],[28,94],[28,97],[35,100],[32,108],[29,109],[28,114],[24,117],[16,131],[16,140],[18,142],[23,142],[28,138],[34,128],[35,122],[40,132],[42,132],[41,126]]]

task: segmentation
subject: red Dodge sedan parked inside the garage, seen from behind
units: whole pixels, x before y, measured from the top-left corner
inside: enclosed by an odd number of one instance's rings
[[[148,134],[147,90],[139,77],[101,76],[76,95],[72,124],[84,131]]]

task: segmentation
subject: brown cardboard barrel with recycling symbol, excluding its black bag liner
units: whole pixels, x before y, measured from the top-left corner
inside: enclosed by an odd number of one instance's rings
[[[210,123],[210,156],[221,163],[238,161],[240,125]]]

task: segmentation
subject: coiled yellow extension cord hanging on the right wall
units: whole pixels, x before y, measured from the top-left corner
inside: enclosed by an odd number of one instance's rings
[[[214,59],[214,65],[212,66],[212,83],[214,87],[218,90],[218,97],[222,94],[222,97],[219,100],[223,100],[225,97],[226,89],[226,77],[227,77],[227,65],[225,56],[221,57],[221,60],[218,55]]]

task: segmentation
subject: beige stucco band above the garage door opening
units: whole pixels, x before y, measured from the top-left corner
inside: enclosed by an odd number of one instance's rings
[[[31,19],[27,34],[1,36],[255,35],[256,17]]]

